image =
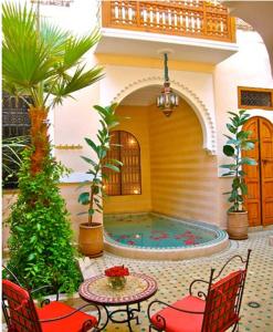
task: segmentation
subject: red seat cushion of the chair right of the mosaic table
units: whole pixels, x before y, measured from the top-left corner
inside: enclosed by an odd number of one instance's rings
[[[171,305],[188,311],[204,311],[206,302],[202,299],[188,295]],[[166,307],[151,317],[153,324],[159,330],[161,324],[156,319],[157,314],[160,314],[166,320],[166,329],[164,331],[201,332],[203,314],[185,313]]]

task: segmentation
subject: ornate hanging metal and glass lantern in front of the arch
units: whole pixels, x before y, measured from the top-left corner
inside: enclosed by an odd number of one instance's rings
[[[164,76],[165,82],[161,94],[157,96],[157,107],[160,108],[166,116],[170,116],[174,108],[178,106],[179,98],[170,87],[167,53],[164,53]]]

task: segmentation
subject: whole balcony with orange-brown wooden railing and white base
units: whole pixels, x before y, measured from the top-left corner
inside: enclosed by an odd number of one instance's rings
[[[213,4],[214,3],[214,4]],[[235,23],[216,1],[102,1],[96,53],[219,63],[237,52]]]

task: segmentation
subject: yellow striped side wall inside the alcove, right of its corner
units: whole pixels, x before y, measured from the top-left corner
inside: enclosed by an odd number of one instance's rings
[[[217,224],[217,159],[202,148],[198,118],[183,101],[166,118],[149,110],[153,210]]]

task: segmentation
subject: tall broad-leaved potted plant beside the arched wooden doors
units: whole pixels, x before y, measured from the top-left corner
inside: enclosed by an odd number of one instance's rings
[[[243,240],[248,239],[248,211],[244,206],[244,198],[248,195],[248,186],[244,180],[245,172],[243,165],[256,165],[256,162],[249,157],[243,157],[243,151],[250,151],[254,148],[255,139],[251,139],[251,132],[243,131],[242,126],[245,124],[249,114],[245,114],[245,110],[241,110],[237,113],[228,112],[230,123],[227,127],[230,132],[229,135],[224,135],[228,138],[227,144],[223,146],[223,154],[231,157],[233,162],[231,164],[221,165],[220,167],[228,169],[222,176],[232,176],[231,190],[224,193],[230,195],[228,201],[231,207],[228,210],[228,234],[231,239]]]

